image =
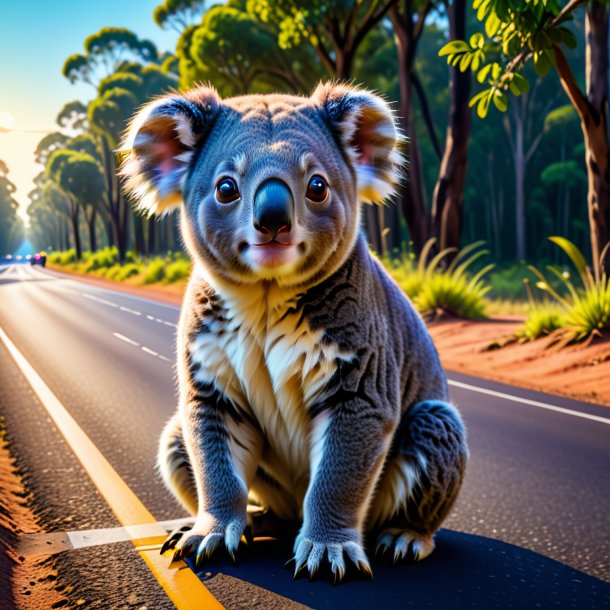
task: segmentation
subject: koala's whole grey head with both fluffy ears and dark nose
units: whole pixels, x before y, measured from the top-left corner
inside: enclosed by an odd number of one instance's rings
[[[136,115],[122,173],[151,215],[184,202],[185,242],[212,273],[301,285],[349,255],[360,202],[392,193],[399,139],[386,102],[347,85],[227,100],[200,87]]]

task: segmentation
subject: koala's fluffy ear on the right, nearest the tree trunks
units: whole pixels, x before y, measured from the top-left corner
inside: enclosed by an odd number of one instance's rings
[[[394,112],[381,97],[340,83],[321,83],[312,95],[358,177],[365,203],[381,203],[395,190],[404,163],[404,136]]]

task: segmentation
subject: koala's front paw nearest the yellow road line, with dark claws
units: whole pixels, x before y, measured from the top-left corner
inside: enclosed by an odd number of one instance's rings
[[[161,554],[174,549],[174,560],[195,556],[195,567],[208,559],[222,545],[233,561],[241,535],[246,527],[246,516],[220,520],[210,513],[197,517],[192,528],[174,530],[161,547]]]

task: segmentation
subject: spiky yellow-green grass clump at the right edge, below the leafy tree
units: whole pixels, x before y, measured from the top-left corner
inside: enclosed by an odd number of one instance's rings
[[[610,280],[602,271],[593,276],[582,252],[564,237],[550,237],[570,259],[577,271],[577,283],[573,282],[567,271],[553,265],[547,270],[561,280],[564,292],[553,288],[547,277],[536,267],[530,270],[537,276],[537,288],[554,300],[560,311],[560,329],[556,339],[562,344],[589,341],[610,331]],[[602,253],[608,255],[610,246]]]

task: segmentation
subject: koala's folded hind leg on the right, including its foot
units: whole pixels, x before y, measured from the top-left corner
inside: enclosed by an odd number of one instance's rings
[[[434,533],[449,514],[464,478],[468,449],[457,409],[420,402],[403,415],[382,474],[369,523],[377,554],[419,561],[434,550]]]

